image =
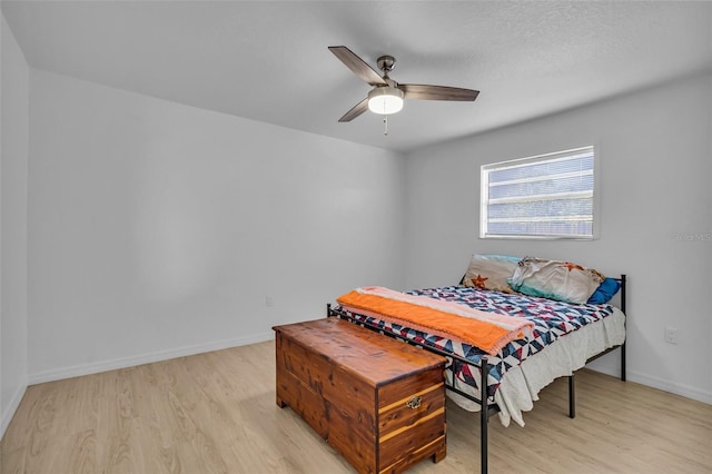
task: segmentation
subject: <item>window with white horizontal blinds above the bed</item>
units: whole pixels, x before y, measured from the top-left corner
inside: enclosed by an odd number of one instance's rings
[[[479,237],[594,237],[593,147],[482,167]]]

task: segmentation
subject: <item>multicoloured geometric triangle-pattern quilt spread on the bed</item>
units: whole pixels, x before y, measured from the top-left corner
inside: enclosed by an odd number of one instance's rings
[[[553,299],[463,286],[447,286],[406,293],[456,302],[485,312],[520,316],[534,323],[535,328],[531,338],[516,339],[507,344],[496,356],[488,356],[488,363],[491,365],[490,373],[487,374],[487,396],[491,398],[494,397],[502,384],[504,374],[512,367],[520,366],[526,358],[544,350],[546,346],[565,334],[601,320],[613,313],[613,306],[611,305],[572,305]],[[464,364],[457,359],[451,359],[448,369],[453,371],[454,377],[474,387],[476,393],[479,393],[478,385],[481,377],[478,367],[482,356],[486,355],[486,353],[479,348],[374,317],[355,313],[348,313],[348,316],[356,320],[377,326],[382,330],[396,336],[464,357],[473,365]]]

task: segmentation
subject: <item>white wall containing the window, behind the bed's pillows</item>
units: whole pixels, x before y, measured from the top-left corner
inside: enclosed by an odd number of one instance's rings
[[[705,75],[408,155],[406,286],[454,283],[473,253],[626,273],[630,379],[712,403],[711,111]],[[592,144],[600,239],[478,238],[481,165]],[[665,327],[678,345],[663,342]],[[619,357],[595,367],[617,374]]]

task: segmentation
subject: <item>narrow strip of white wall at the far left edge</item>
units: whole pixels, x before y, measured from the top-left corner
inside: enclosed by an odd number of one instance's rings
[[[27,169],[29,68],[1,19],[0,437],[27,388]]]

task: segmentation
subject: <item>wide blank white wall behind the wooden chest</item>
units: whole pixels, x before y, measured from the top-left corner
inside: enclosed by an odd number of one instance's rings
[[[400,154],[42,71],[30,89],[30,383],[265,340],[403,286]]]

